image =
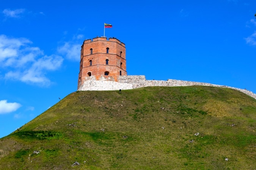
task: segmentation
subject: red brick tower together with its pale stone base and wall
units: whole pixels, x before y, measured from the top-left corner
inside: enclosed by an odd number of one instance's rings
[[[125,44],[116,38],[96,37],[84,40],[81,47],[78,91],[194,85],[233,88],[256,99],[256,94],[251,91],[223,85],[173,79],[146,80],[145,76],[127,76]]]

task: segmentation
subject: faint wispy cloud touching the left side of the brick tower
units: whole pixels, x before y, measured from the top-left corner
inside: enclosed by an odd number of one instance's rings
[[[67,59],[80,61],[81,39],[82,34],[75,35],[72,40],[61,43],[58,47],[58,52],[66,56]]]

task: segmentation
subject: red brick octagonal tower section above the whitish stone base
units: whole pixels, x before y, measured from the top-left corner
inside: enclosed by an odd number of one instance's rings
[[[110,80],[118,82],[118,77],[127,75],[125,44],[116,38],[96,37],[85,40],[81,48],[78,88],[83,81]]]

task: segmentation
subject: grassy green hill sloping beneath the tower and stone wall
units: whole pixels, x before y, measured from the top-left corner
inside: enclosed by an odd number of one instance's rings
[[[0,139],[1,170],[256,169],[255,160],[256,100],[217,87],[77,91]]]

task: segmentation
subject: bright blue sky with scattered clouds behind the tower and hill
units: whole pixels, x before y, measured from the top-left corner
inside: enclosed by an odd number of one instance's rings
[[[256,93],[255,0],[1,0],[0,138],[77,90],[84,39],[126,44],[127,74]]]

